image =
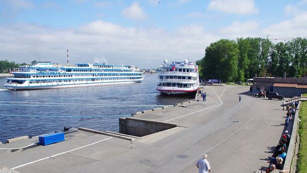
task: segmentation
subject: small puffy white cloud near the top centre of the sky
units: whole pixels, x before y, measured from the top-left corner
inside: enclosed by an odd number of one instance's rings
[[[122,15],[132,20],[142,20],[147,18],[143,9],[137,3],[133,3],[130,7],[124,9]]]

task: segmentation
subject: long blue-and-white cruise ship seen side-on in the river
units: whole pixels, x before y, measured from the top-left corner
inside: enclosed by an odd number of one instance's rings
[[[56,65],[38,62],[11,72],[4,85],[10,90],[65,88],[106,84],[137,83],[143,73],[134,66],[106,64]]]

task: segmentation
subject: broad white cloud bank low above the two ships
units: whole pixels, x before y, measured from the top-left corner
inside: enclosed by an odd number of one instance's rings
[[[165,58],[200,60],[206,46],[218,39],[196,24],[169,33],[160,28],[137,29],[101,20],[75,29],[19,23],[0,26],[0,33],[0,60],[65,63],[69,49],[70,64],[108,61],[146,69],[159,67]]]

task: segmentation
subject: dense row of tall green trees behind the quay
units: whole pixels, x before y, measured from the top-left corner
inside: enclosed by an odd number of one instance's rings
[[[307,65],[307,39],[295,38],[272,43],[264,38],[221,39],[205,49],[196,64],[201,79],[223,82],[246,81],[258,77],[304,77]]]

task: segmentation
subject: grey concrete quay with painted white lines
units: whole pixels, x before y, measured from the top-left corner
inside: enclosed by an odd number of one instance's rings
[[[64,142],[0,150],[0,166],[19,172],[198,172],[195,162],[204,153],[211,172],[254,172],[267,166],[266,158],[284,131],[286,111],[281,101],[251,97],[246,86],[203,89],[207,101],[134,115],[174,128],[145,136],[122,135],[126,138],[80,129],[66,134]],[[19,148],[37,140],[0,148]]]

